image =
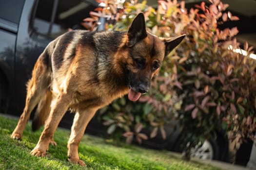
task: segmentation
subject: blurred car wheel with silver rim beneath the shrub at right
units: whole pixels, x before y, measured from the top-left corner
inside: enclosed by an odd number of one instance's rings
[[[210,137],[203,144],[199,142],[195,148],[191,149],[191,156],[204,160],[217,160],[219,157],[217,141]]]

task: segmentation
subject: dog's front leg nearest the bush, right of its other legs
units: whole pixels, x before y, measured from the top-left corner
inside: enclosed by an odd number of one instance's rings
[[[97,108],[79,109],[75,115],[71,134],[68,141],[68,160],[72,163],[85,166],[85,163],[79,159],[78,146],[84,134],[85,128],[93,118]]]

